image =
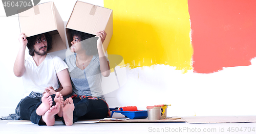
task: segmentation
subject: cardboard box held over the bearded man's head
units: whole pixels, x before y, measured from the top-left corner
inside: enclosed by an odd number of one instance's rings
[[[20,32],[27,37],[49,32],[52,36],[52,49],[48,52],[67,48],[64,23],[53,2],[38,4],[22,11],[18,13]]]

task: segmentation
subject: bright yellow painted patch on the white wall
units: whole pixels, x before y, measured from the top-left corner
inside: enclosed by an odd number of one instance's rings
[[[122,56],[126,66],[193,69],[187,1],[104,0],[104,7],[113,9],[108,53]]]

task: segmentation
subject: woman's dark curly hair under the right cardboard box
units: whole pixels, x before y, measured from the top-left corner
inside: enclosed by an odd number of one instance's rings
[[[82,48],[86,50],[86,55],[92,56],[92,55],[98,54],[98,49],[97,49],[98,37],[92,38],[92,37],[95,37],[95,35],[83,33],[76,30],[70,30],[70,35],[72,39],[74,36],[78,36],[79,38],[81,38],[80,42],[81,42]]]

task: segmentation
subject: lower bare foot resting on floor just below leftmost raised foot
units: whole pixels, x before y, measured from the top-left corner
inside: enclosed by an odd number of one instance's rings
[[[42,115],[42,120],[47,126],[53,126],[55,123],[55,115],[59,113],[60,104],[57,102],[53,105],[44,115]]]

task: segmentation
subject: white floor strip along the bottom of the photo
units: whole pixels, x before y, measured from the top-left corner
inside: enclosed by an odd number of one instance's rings
[[[11,122],[12,124],[7,124]],[[65,126],[13,124],[0,120],[0,133],[256,133],[256,123],[89,123]]]

